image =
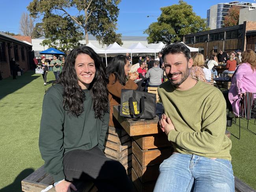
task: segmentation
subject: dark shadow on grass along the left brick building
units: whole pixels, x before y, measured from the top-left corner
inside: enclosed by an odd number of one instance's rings
[[[13,79],[12,77],[3,79],[0,81],[0,100],[15,92],[16,90],[24,87],[29,84],[31,81],[37,78],[42,78],[42,76],[32,76],[34,75],[34,71],[27,71],[22,74],[22,76],[16,76],[17,79]]]

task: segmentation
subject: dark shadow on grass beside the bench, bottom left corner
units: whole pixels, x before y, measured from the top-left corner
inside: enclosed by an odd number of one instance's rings
[[[28,177],[28,175],[32,174],[33,172],[34,172],[34,170],[31,169],[31,168],[23,170],[15,178],[13,183],[11,183],[10,185],[0,189],[0,192],[11,192],[11,191],[17,191],[18,192],[18,191],[22,191],[22,189],[21,189],[21,181],[23,179],[25,179],[26,177]]]

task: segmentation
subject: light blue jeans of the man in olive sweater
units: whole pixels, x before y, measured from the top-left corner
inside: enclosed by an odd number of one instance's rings
[[[231,162],[173,153],[159,167],[154,192],[234,192]]]

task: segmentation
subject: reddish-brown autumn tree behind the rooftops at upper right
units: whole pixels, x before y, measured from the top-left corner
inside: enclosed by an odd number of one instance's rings
[[[239,12],[240,7],[239,6],[232,6],[228,10],[228,14],[224,17],[223,24],[225,27],[238,25],[239,24]]]

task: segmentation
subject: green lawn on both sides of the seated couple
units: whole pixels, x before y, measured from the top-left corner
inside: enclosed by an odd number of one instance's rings
[[[48,72],[48,81],[54,80]],[[26,72],[17,80],[0,81],[0,192],[21,191],[20,181],[43,165],[38,148],[39,124],[45,90],[40,74]],[[256,133],[250,120],[249,129]],[[246,121],[241,121],[246,129]],[[238,120],[237,120],[238,124]],[[234,175],[256,189],[256,135],[241,129],[241,139],[231,136]],[[228,130],[238,135],[238,126]]]

